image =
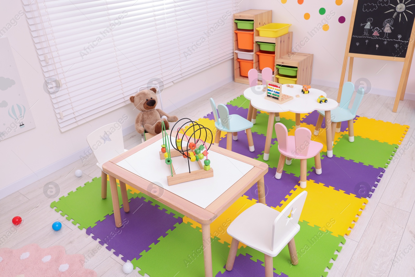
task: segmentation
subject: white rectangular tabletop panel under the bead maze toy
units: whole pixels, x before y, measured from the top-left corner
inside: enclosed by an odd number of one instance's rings
[[[213,177],[169,186],[167,184],[167,176],[171,174],[170,166],[166,164],[164,159],[161,160],[159,155],[162,142],[162,139],[160,139],[152,143],[121,162],[117,162],[117,165],[152,183],[162,186],[164,189],[171,191],[173,194],[201,208],[209,206],[241,179],[242,176],[247,174],[249,170],[254,168],[251,164],[246,164],[217,152],[208,151],[208,157],[211,160],[210,167],[213,169]],[[187,159],[179,156],[173,157],[172,160],[176,173],[188,172]],[[200,168],[196,162],[190,162],[190,169],[193,171]]]

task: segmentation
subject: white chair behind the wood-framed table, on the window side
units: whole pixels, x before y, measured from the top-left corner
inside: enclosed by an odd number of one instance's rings
[[[103,171],[103,164],[110,159],[119,156],[127,151],[124,149],[121,124],[110,123],[98,128],[86,137],[89,147],[97,158],[97,166],[101,169],[101,197],[107,198],[107,173]],[[127,188],[120,180],[120,189],[124,211],[129,211]]]

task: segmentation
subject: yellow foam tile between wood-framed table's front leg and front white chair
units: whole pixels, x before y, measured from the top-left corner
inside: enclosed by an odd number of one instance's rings
[[[248,196],[243,195],[239,197],[238,200],[227,208],[226,211],[224,211],[220,216],[218,216],[215,221],[210,223],[210,236],[212,238],[218,237],[221,243],[227,242],[230,244],[232,242],[232,237],[226,232],[229,224],[231,224],[232,221],[234,221],[234,219],[237,218],[237,216],[239,216],[243,211],[253,206],[255,203],[256,200],[249,200]],[[183,217],[183,223],[188,222],[192,224],[193,228],[202,228],[199,223],[193,221],[191,218],[188,218],[187,216]],[[201,229],[199,231],[202,232]],[[246,247],[243,243],[239,243],[238,248],[241,248],[242,246]]]

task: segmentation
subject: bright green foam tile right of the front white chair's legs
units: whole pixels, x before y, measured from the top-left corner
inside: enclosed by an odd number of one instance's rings
[[[330,231],[323,232],[318,226],[310,226],[307,221],[299,221],[300,231],[295,235],[295,245],[297,248],[298,265],[292,265],[288,246],[286,245],[281,252],[273,258],[274,272],[295,277],[295,276],[323,276],[328,272],[326,267],[332,268],[331,259],[336,260],[337,254],[334,252],[342,250],[342,245],[346,243],[344,237],[330,235]],[[342,244],[342,245],[340,245]],[[250,247],[239,248],[237,255],[249,254],[251,260],[260,260],[264,265],[264,254]],[[236,257],[238,258],[238,257]],[[261,272],[262,274],[262,272]],[[262,275],[263,276],[263,275]]]

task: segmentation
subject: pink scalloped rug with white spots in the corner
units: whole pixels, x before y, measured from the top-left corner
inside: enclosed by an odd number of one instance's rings
[[[63,246],[40,248],[37,244],[20,249],[0,248],[2,277],[96,277],[83,267],[83,255],[66,255]]]

